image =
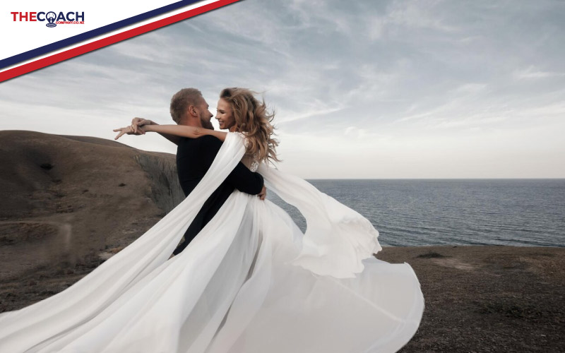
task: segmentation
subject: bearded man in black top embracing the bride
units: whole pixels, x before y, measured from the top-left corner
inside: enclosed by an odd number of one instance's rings
[[[210,123],[213,115],[208,108],[208,103],[206,103],[199,90],[196,88],[183,88],[173,95],[170,112],[174,122],[179,125],[213,129],[212,123]],[[141,118],[134,118],[131,121],[131,126],[135,133],[138,133],[138,127],[143,125],[157,124]],[[230,127],[227,126],[225,128]],[[210,168],[220,150],[222,142],[218,138],[209,135],[200,138],[184,138],[167,133],[160,134],[178,146],[177,173],[179,174],[179,182],[184,196],[188,196],[204,177],[208,168]],[[189,228],[186,229],[184,241],[173,251],[174,255],[183,251],[191,240],[196,237],[196,234],[210,222],[234,189],[251,195],[258,195],[261,200],[266,196],[266,189],[263,185],[261,174],[251,172],[242,162],[239,162],[225,181],[206,200],[191,225],[189,225]]]

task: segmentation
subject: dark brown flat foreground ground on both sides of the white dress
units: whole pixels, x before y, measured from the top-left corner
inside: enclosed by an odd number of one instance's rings
[[[103,255],[5,277],[0,312],[61,292]],[[565,352],[565,248],[386,246],[376,258],[408,263],[424,293],[420,328],[399,352]]]

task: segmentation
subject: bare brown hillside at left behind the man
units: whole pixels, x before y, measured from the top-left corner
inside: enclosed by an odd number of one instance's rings
[[[95,267],[184,198],[174,155],[0,131],[0,281]]]

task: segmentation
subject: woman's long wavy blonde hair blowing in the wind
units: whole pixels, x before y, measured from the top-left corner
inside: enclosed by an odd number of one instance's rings
[[[246,154],[258,162],[278,162],[275,151],[278,140],[271,138],[275,127],[270,124],[275,113],[269,113],[265,101],[257,100],[254,93],[246,88],[225,88],[220,98],[230,103],[237,131],[246,136]]]

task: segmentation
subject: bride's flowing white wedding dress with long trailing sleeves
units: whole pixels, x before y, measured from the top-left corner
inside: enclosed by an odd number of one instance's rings
[[[408,263],[379,261],[378,232],[302,179],[258,166],[307,221],[234,191],[167,260],[244,155],[228,133],[196,189],[131,245],[63,292],[0,314],[0,352],[396,352],[424,299]]]

